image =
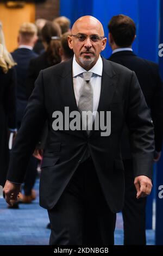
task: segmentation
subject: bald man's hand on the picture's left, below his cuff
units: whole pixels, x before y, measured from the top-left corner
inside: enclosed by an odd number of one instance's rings
[[[3,188],[3,192],[5,193],[6,202],[12,206],[14,201],[17,200],[18,193],[20,192],[21,184],[15,184],[7,180],[5,182],[5,186]]]

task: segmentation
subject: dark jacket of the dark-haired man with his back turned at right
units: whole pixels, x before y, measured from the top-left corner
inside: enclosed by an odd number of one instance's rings
[[[161,151],[163,136],[163,92],[158,65],[149,60],[137,57],[131,51],[116,52],[110,56],[109,60],[126,66],[135,72],[147,105],[151,109],[155,131],[155,149],[156,151]],[[123,130],[122,156],[123,159],[129,159],[131,157],[129,131],[127,127]]]

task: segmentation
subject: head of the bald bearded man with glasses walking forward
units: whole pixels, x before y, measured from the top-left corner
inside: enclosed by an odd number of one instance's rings
[[[88,71],[96,64],[106,40],[102,23],[95,17],[83,16],[74,23],[72,35],[68,36],[68,45],[77,63]]]

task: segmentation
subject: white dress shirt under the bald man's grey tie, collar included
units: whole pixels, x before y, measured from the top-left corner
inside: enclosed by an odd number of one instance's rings
[[[99,97],[101,93],[102,71],[103,71],[103,62],[102,62],[101,56],[99,56],[96,64],[89,70],[89,72],[93,73],[90,80],[90,83],[93,89],[93,111],[97,111],[97,108],[98,108]],[[87,72],[87,71],[77,63],[76,58],[74,56],[73,63],[72,63],[72,74],[73,74],[73,88],[74,88],[74,94],[77,101],[77,106],[79,103],[80,88],[82,87],[82,84],[83,84],[83,72]]]

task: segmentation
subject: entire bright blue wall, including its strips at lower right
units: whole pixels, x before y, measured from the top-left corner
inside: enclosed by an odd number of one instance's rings
[[[84,15],[95,16],[102,22],[105,36],[108,37],[108,22],[112,16],[124,14],[136,23],[136,40],[134,52],[142,58],[159,63],[163,79],[163,57],[159,58],[159,44],[163,44],[163,0],[60,0],[60,15],[67,16],[72,24]],[[111,54],[109,45],[102,55],[108,58]],[[163,154],[162,154],[163,155]],[[163,156],[162,156],[163,158]],[[163,185],[163,159],[155,164],[154,190],[147,203],[147,228],[152,228],[152,201],[156,195],[156,244],[163,245],[163,199],[158,198],[158,186]]]

